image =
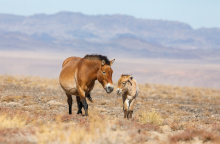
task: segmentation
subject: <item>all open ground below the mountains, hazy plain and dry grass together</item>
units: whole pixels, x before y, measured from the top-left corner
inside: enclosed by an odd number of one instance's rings
[[[116,58],[115,87],[121,73],[140,87],[134,117],[125,120],[122,98],[98,82],[89,117],[76,115],[75,98],[68,114],[58,83],[65,57],[1,53],[0,143],[220,143],[218,63]]]

